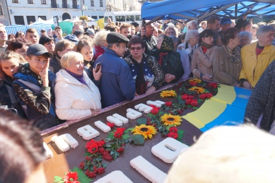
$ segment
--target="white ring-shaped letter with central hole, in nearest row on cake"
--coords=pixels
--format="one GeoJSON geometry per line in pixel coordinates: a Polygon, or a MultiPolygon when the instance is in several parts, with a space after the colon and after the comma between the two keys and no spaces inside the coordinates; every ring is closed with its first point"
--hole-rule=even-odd
{"type": "Polygon", "coordinates": [[[151,151],[164,162],[173,163],[183,149],[188,149],[188,146],[175,140],[175,138],[166,138],[153,146],[151,151]]]}

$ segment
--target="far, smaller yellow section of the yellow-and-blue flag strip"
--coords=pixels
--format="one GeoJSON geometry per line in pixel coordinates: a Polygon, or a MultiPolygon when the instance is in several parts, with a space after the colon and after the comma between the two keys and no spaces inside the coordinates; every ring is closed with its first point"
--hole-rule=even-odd
{"type": "Polygon", "coordinates": [[[213,96],[212,99],[219,100],[221,103],[232,104],[236,99],[236,92],[234,87],[228,85],[219,84],[218,93],[216,96],[213,96]]]}

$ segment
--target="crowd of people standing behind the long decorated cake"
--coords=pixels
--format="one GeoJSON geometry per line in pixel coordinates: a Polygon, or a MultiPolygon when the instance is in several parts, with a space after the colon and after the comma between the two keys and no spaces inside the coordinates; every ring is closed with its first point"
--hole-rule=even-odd
{"type": "Polygon", "coordinates": [[[66,36],[59,26],[7,35],[0,25],[0,103],[43,130],[190,77],[253,89],[275,59],[275,21],[245,18],[76,23],[66,36]]]}

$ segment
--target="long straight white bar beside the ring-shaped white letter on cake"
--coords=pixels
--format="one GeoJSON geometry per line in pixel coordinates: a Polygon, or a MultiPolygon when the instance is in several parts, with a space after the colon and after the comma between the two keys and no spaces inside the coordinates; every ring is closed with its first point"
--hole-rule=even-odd
{"type": "Polygon", "coordinates": [[[166,178],[166,173],[157,169],[157,167],[145,160],[141,155],[131,160],[130,164],[134,169],[146,177],[146,179],[153,183],[162,183],[166,178]]]}

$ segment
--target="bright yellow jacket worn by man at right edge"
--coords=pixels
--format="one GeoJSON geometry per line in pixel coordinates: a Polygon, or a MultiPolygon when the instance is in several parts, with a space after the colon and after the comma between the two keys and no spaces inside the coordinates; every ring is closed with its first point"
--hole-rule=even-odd
{"type": "Polygon", "coordinates": [[[245,78],[254,87],[268,65],[275,59],[275,46],[266,46],[263,52],[256,56],[256,45],[258,41],[250,45],[245,45],[241,49],[241,60],[243,67],[240,79],[245,78]],[[253,76],[254,75],[254,76],[253,76]]]}

